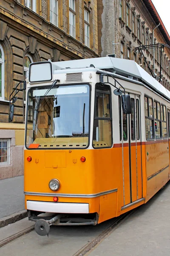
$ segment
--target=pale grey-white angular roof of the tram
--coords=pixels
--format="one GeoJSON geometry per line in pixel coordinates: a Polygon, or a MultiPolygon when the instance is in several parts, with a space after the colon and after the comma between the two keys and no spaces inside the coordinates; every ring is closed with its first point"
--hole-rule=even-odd
{"type": "Polygon", "coordinates": [[[90,67],[92,64],[99,70],[106,70],[131,79],[139,79],[139,81],[144,82],[144,84],[153,88],[157,93],[170,99],[170,91],[150,76],[150,74],[148,74],[135,61],[121,58],[101,57],[53,63],[57,65],[57,69],[85,68],[90,67]]]}

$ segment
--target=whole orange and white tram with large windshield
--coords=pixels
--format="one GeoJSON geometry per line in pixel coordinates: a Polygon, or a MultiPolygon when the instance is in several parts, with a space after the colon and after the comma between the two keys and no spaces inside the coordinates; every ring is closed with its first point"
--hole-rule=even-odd
{"type": "Polygon", "coordinates": [[[39,235],[119,216],[170,179],[170,91],[135,61],[32,63],[26,98],[25,207],[39,235]]]}

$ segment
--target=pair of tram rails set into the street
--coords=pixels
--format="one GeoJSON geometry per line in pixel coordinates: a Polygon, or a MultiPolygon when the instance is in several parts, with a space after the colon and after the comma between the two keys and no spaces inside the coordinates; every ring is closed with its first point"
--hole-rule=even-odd
{"type": "MultiPolygon", "coordinates": [[[[117,227],[119,227],[120,224],[122,224],[127,218],[130,217],[130,215],[135,211],[136,209],[133,209],[130,212],[127,212],[117,218],[113,219],[113,222],[109,227],[107,227],[105,230],[102,231],[98,236],[96,236],[95,239],[93,239],[91,242],[88,242],[83,246],[81,249],[79,249],[76,253],[74,253],[72,256],[85,256],[87,253],[89,253],[91,250],[93,250],[100,242],[102,242],[110,233],[112,233],[117,227]]],[[[9,244],[10,242],[19,239],[22,236],[25,236],[26,234],[30,233],[34,230],[34,225],[31,227],[28,227],[12,236],[7,237],[6,239],[3,239],[0,241],[0,247],[3,247],[6,244],[9,244]]]]}

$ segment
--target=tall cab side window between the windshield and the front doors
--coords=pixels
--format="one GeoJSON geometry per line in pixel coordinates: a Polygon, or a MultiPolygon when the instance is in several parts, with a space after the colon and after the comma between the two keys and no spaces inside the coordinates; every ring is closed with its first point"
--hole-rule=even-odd
{"type": "Polygon", "coordinates": [[[112,146],[111,87],[96,84],[93,129],[94,148],[112,146]]]}

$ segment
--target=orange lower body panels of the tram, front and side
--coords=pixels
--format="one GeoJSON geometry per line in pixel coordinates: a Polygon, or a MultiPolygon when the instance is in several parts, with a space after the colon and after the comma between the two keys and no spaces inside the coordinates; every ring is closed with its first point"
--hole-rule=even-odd
{"type": "MultiPolygon", "coordinates": [[[[25,150],[24,191],[53,193],[57,196],[58,193],[91,195],[117,189],[117,192],[94,198],[59,197],[59,202],[88,203],[89,213],[98,213],[98,223],[119,216],[147,202],[169,179],[168,141],[146,144],[137,145],[137,160],[136,145],[131,146],[132,199],[136,204],[125,209],[122,208],[122,144],[96,150],[25,150]],[[31,162],[26,160],[28,156],[32,157],[31,162]],[[86,158],[84,163],[80,160],[82,156],[86,158]],[[160,172],[161,169],[164,170],[160,172]],[[57,192],[51,191],[48,186],[52,178],[61,183],[57,192]],[[145,198],[145,201],[138,202],[140,198],[145,198]]],[[[130,204],[128,150],[128,146],[124,147],[125,205],[130,204]]],[[[53,202],[53,196],[26,195],[25,200],[53,202]]]]}

